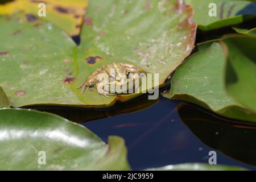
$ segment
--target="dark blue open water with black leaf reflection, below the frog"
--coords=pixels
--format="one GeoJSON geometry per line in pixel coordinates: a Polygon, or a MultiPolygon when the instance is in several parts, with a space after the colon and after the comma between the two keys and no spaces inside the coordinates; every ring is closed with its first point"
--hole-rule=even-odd
{"type": "MultiPolygon", "coordinates": [[[[148,109],[97,119],[82,125],[105,142],[109,135],[123,137],[133,169],[188,162],[208,163],[211,150],[217,152],[217,164],[256,169],[242,162],[256,164],[255,129],[234,127],[233,121],[218,118],[183,102],[161,97],[157,104],[148,109]],[[202,138],[208,146],[202,142],[202,138]],[[243,141],[247,139],[251,142],[243,141]]],[[[236,125],[243,126],[240,122],[236,125]]]]}

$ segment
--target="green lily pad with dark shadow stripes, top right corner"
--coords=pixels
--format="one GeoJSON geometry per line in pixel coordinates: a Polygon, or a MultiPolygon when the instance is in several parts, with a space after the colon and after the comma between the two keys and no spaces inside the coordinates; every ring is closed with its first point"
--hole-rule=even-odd
{"type": "Polygon", "coordinates": [[[246,6],[249,6],[249,1],[234,1],[234,0],[204,0],[194,1],[185,0],[185,3],[191,5],[195,11],[194,20],[198,27],[203,31],[209,31],[233,24],[242,23],[246,18],[239,12],[246,6]],[[216,5],[216,16],[209,16],[209,11],[213,8],[212,4],[216,5]],[[209,5],[211,5],[209,7],[209,5]]]}

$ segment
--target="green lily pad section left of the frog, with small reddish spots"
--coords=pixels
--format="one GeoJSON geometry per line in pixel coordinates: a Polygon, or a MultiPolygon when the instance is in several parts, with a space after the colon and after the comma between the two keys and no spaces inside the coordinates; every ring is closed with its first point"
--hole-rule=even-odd
{"type": "Polygon", "coordinates": [[[83,105],[69,85],[76,61],[71,38],[25,16],[1,16],[0,24],[0,86],[12,106],[83,105]]]}

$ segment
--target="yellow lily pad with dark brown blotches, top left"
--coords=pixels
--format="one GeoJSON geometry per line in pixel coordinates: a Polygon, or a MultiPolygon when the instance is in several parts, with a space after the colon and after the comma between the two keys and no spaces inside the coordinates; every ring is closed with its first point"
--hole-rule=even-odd
{"type": "Polygon", "coordinates": [[[88,6],[87,0],[15,0],[4,5],[0,5],[0,15],[13,14],[15,11],[23,11],[30,16],[30,19],[43,18],[52,22],[57,27],[62,28],[69,36],[80,34],[82,22],[85,15],[85,9],[88,6]],[[40,3],[46,5],[46,16],[38,16],[40,3]]]}

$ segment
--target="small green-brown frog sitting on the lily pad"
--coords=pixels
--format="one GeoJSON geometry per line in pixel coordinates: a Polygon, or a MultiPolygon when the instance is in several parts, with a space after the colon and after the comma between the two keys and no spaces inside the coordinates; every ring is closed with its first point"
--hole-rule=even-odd
{"type": "Polygon", "coordinates": [[[82,84],[77,89],[81,89],[81,94],[84,94],[86,88],[89,89],[93,86],[98,88],[98,86],[100,86],[100,88],[103,90],[103,92],[99,92],[100,94],[104,95],[105,97],[108,97],[109,95],[114,96],[117,93],[109,93],[109,88],[111,89],[111,86],[115,84],[119,84],[119,86],[127,85],[129,82],[133,82],[134,80],[138,79],[139,74],[141,73],[143,76],[146,76],[146,72],[136,65],[113,62],[111,64],[103,65],[102,67],[97,68],[84,80],[84,82],[82,82],[82,84]],[[102,81],[98,79],[98,76],[102,73],[105,73],[105,75],[108,76],[108,79],[106,79],[108,81],[102,81]],[[132,74],[131,79],[129,79],[130,73],[134,73],[132,74]]]}

